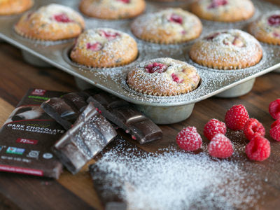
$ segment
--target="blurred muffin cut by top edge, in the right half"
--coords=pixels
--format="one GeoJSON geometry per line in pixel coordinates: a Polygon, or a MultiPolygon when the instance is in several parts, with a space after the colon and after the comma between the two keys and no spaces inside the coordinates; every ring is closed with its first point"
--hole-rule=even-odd
{"type": "Polygon", "coordinates": [[[198,0],[190,10],[200,18],[221,22],[247,20],[255,12],[250,0],[198,0]]]}

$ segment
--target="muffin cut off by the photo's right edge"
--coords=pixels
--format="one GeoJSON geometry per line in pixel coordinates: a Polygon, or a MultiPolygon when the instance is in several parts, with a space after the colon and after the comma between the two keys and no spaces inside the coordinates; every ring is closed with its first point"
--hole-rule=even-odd
{"type": "Polygon", "coordinates": [[[259,41],[280,45],[280,10],[262,15],[249,25],[248,31],[259,41]]]}

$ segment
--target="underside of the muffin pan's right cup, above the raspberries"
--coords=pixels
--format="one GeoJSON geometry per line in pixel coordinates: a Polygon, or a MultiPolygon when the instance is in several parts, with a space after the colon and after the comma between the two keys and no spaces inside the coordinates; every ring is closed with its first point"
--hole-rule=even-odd
{"type": "Polygon", "coordinates": [[[255,78],[248,80],[245,83],[241,83],[240,85],[236,85],[235,87],[232,87],[229,90],[225,90],[219,94],[216,94],[216,97],[221,97],[221,98],[240,97],[250,92],[253,88],[254,83],[255,83],[255,78]]]}

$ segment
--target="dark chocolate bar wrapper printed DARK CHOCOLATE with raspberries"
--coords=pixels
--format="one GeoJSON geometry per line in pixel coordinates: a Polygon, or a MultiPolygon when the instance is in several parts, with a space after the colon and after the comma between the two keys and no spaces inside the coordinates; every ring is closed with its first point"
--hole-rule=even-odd
{"type": "Polygon", "coordinates": [[[40,105],[63,92],[28,90],[0,130],[0,171],[59,178],[62,164],[51,146],[64,128],[50,118],[40,105]]]}

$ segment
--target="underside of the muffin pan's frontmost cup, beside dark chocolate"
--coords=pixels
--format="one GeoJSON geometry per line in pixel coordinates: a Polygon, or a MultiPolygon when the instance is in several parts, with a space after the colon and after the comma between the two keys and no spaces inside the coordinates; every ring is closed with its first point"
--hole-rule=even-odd
{"type": "Polygon", "coordinates": [[[183,106],[144,106],[135,105],[136,108],[144,113],[154,123],[159,125],[167,125],[179,123],[186,120],[193,113],[195,104],[188,104],[183,106]]]}

